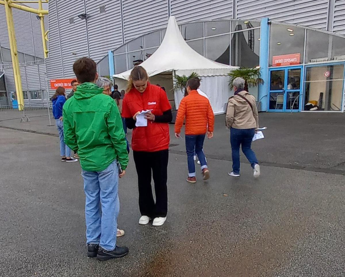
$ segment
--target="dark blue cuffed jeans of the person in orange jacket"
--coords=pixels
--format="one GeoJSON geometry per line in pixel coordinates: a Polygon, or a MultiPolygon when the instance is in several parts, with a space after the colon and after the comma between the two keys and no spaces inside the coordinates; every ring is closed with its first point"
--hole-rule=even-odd
{"type": "Polygon", "coordinates": [[[194,150],[198,155],[201,170],[207,168],[205,155],[203,152],[205,134],[203,135],[186,135],[186,152],[188,161],[188,176],[195,177],[195,164],[194,164],[194,150]]]}

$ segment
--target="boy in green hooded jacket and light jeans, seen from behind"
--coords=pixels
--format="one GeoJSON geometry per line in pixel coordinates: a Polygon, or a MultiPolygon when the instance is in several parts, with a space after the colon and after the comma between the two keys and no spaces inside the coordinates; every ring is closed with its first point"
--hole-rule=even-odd
{"type": "Polygon", "coordinates": [[[115,101],[95,85],[95,61],[78,59],[73,71],[80,85],[63,106],[63,127],[65,143],[80,157],[87,255],[99,260],[120,258],[128,253],[127,247],[116,246],[119,177],[125,176],[128,164],[121,115],[115,101]]]}

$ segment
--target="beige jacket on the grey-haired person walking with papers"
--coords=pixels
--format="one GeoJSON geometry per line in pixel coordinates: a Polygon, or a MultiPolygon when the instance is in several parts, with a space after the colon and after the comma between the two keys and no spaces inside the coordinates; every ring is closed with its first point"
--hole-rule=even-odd
{"type": "Polygon", "coordinates": [[[256,108],[255,97],[243,90],[238,94],[247,98],[252,104],[253,111],[245,99],[238,95],[233,95],[228,100],[226,109],[225,124],[228,128],[252,129],[259,127],[259,114],[256,108]]]}

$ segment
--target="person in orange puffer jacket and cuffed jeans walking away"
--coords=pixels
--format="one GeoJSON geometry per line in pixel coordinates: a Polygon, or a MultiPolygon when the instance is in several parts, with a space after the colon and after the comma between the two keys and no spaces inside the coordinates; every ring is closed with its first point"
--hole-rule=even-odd
{"type": "Polygon", "coordinates": [[[188,80],[188,95],[182,99],[178,107],[175,122],[175,137],[179,138],[181,127],[186,119],[187,182],[189,183],[196,183],[194,151],[198,155],[201,164],[203,180],[207,180],[210,177],[203,145],[206,132],[209,139],[213,137],[214,114],[208,99],[197,92],[198,87],[198,80],[194,78],[188,80]]]}

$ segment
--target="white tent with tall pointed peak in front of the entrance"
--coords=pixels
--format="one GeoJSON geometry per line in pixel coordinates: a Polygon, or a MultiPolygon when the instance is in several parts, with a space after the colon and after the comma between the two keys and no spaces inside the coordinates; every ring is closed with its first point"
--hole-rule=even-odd
{"type": "MultiPolygon", "coordinates": [[[[198,73],[202,78],[200,89],[208,95],[214,113],[224,113],[224,104],[231,95],[227,74],[236,67],[209,60],[190,48],[182,37],[174,16],[169,18],[167,30],[159,48],[140,66],[146,69],[151,83],[159,83],[168,89],[172,88],[173,75],[198,73]],[[166,82],[171,84],[165,85],[166,82]]],[[[131,69],[115,74],[114,77],[128,80],[130,72],[131,69]]],[[[176,108],[182,98],[182,92],[174,93],[176,108]]]]}

